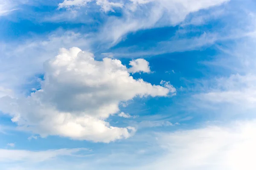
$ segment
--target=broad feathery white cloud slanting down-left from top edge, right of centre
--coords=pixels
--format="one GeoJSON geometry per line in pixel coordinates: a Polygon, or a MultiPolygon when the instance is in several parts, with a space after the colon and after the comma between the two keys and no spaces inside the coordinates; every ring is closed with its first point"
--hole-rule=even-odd
{"type": "Polygon", "coordinates": [[[130,33],[141,29],[176,26],[186,16],[201,9],[221,5],[229,0],[151,0],[127,3],[122,17],[110,17],[102,28],[100,37],[116,44],[130,33]],[[137,3],[136,3],[137,2],[137,3]],[[134,4],[139,4],[134,7],[134,4]],[[143,11],[143,13],[141,13],[143,11]],[[150,18],[150,20],[148,20],[150,18]]]}

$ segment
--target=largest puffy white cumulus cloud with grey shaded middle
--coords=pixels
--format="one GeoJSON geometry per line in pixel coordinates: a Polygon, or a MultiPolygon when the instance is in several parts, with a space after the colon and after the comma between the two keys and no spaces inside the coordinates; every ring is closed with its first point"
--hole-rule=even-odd
{"type": "Polygon", "coordinates": [[[128,138],[133,127],[113,127],[105,121],[119,111],[119,102],[134,97],[171,96],[169,83],[151,85],[134,79],[120,60],[94,59],[79,48],[60,49],[44,63],[41,89],[27,98],[0,98],[0,108],[23,130],[42,137],[59,135],[94,142],[128,138]]]}

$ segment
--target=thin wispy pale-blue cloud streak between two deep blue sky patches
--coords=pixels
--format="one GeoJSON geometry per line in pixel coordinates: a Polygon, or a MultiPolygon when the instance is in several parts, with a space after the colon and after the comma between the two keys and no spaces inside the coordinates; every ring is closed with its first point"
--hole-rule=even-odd
{"type": "MultiPolygon", "coordinates": [[[[184,52],[193,51],[201,48],[205,48],[214,45],[217,41],[227,40],[227,37],[221,36],[218,33],[201,33],[195,32],[195,34],[200,34],[199,36],[187,38],[186,34],[176,32],[176,35],[171,37],[169,40],[157,42],[151,47],[147,47],[147,50],[141,50],[142,46],[129,46],[124,48],[117,48],[111,51],[116,57],[145,57],[145,56],[156,56],[160,54],[167,54],[173,52],[184,52]]],[[[231,36],[230,36],[231,37],[231,36]]],[[[234,38],[234,37],[233,37],[234,38]]],[[[144,47],[144,46],[143,46],[144,47]]]]}

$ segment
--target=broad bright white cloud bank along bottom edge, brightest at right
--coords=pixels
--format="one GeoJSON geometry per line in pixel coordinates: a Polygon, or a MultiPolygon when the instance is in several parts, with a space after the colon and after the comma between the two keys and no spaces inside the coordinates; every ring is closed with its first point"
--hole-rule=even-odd
{"type": "MultiPolygon", "coordinates": [[[[256,120],[236,121],[226,125],[207,124],[191,130],[154,133],[148,136],[142,134],[138,139],[141,143],[130,141],[131,143],[120,144],[118,147],[115,145],[110,153],[94,153],[93,157],[77,161],[65,160],[60,156],[83,156],[86,153],[81,154],[81,151],[87,149],[38,152],[0,150],[0,153],[3,153],[0,155],[0,161],[2,164],[12,162],[9,167],[20,165],[15,161],[29,164],[45,161],[46,164],[40,168],[50,169],[47,168],[49,160],[58,158],[58,161],[51,162],[51,168],[63,170],[70,167],[76,167],[77,170],[83,170],[84,167],[89,170],[169,170],[170,167],[175,170],[254,170],[255,130],[256,120]]],[[[20,165],[20,168],[27,165],[20,165]]],[[[34,167],[37,165],[34,164],[34,167]]],[[[27,169],[32,170],[33,167],[27,169]]]]}

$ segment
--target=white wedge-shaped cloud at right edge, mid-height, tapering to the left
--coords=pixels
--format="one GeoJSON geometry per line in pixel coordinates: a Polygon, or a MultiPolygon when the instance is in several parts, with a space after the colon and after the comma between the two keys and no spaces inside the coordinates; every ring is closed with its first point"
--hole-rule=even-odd
{"type": "MultiPolygon", "coordinates": [[[[230,103],[255,108],[256,104],[256,76],[247,74],[233,74],[212,80],[209,92],[195,95],[196,98],[211,103],[230,103]]],[[[208,87],[209,88],[209,87],[208,87]]]]}

